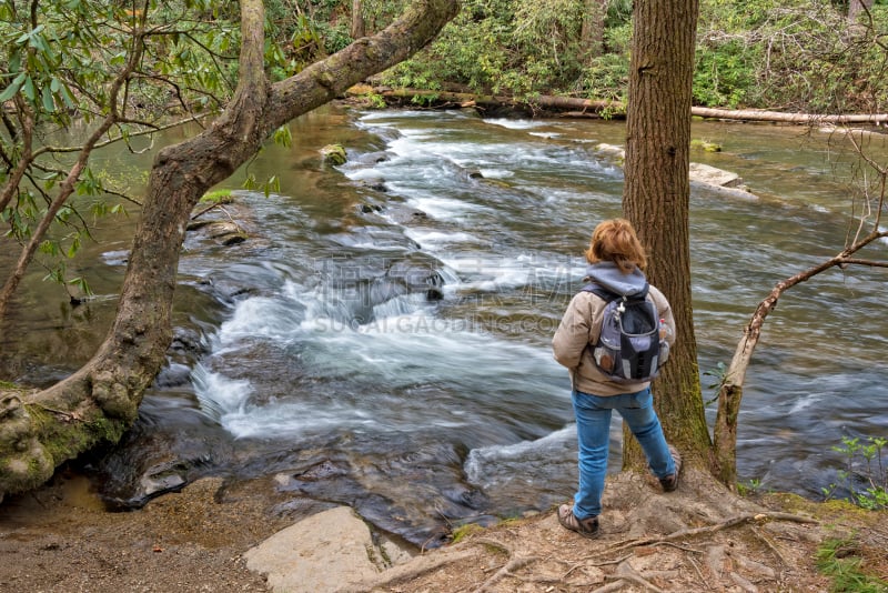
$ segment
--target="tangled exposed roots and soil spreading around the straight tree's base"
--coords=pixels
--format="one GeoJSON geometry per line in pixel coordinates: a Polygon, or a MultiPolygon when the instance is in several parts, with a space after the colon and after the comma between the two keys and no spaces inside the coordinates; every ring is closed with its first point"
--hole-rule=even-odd
{"type": "Polygon", "coordinates": [[[471,534],[450,550],[430,554],[442,555],[441,562],[432,565],[425,556],[414,559],[404,566],[418,561],[415,567],[380,575],[384,581],[366,591],[755,593],[828,589],[811,562],[814,542],[825,536],[819,521],[805,513],[778,512],[787,509],[783,505],[767,509],[740,499],[693,469],[685,474],[679,492],[664,494],[656,486],[646,475],[632,472],[608,479],[597,540],[565,530],[555,514],[548,513],[471,534]],[[791,543],[783,543],[783,535],[791,543]]]}

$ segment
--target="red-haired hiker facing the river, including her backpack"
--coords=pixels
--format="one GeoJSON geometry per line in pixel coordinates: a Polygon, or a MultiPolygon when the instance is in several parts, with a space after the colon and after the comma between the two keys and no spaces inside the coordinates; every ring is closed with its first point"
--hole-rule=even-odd
{"type": "Polygon", "coordinates": [[[675,341],[675,319],[663,293],[647,283],[644,247],[629,221],[606,220],[595,228],[585,255],[586,285],[571,300],[552,341],[555,360],[571,373],[579,442],[579,485],[573,504],[558,507],[558,522],[596,537],[614,410],[667,492],[678,485],[682,458],[666,443],[650,393],[650,380],[675,341]]]}

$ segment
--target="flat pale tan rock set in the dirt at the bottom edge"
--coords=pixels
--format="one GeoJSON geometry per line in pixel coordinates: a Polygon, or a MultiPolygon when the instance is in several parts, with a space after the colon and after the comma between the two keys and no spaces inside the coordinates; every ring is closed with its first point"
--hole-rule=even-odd
{"type": "Polygon", "coordinates": [[[246,567],[265,575],[275,593],[352,591],[411,557],[394,542],[374,543],[370,527],[347,506],[303,519],[244,554],[246,567]]]}

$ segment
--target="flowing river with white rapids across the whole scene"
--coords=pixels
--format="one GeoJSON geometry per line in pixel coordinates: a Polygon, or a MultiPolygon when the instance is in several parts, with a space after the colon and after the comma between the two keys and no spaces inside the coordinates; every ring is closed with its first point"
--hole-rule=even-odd
{"type": "MultiPolygon", "coordinates": [[[[90,465],[100,490],[125,505],[143,501],[145,474],[160,486],[274,474],[294,500],[349,504],[414,543],[571,496],[569,382],[549,342],[592,229],[620,214],[620,163],[599,144],[623,145],[625,123],[329,107],[292,131],[229,182],[280,179],[268,197],[235,191],[251,239],[188,239],[170,362],[124,442],[90,465]],[[322,162],[332,142],[344,165],[322,162]]],[[[755,194],[692,188],[708,373],[776,282],[842,249],[854,160],[838,137],[801,128],[695,122],[693,135],[724,151],[692,161],[755,194]]],[[[108,157],[133,179],[149,158],[108,157]]],[[[26,289],[22,331],[3,338],[13,379],[48,383],[92,353],[131,227],[90,248],[101,258],[83,264],[99,294],[87,305],[26,289]]],[[[885,260],[888,245],[870,253],[885,260]]],[[[837,481],[842,436],[888,435],[885,281],[884,269],[830,270],[768,316],[739,416],[743,480],[816,499],[837,481]]],[[[717,379],[702,381],[712,399],[717,379]]],[[[617,419],[613,439],[616,470],[617,419]]]]}

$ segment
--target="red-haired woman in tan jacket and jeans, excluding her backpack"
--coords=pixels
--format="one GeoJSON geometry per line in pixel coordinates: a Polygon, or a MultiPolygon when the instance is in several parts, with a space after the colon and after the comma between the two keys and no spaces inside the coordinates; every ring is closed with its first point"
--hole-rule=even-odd
{"type": "MultiPolygon", "coordinates": [[[[647,257],[632,224],[624,219],[602,222],[595,228],[588,250],[589,263],[584,281],[620,295],[632,295],[648,287],[643,270],[647,257]]],[[[649,298],[664,325],[665,339],[674,342],[675,319],[668,301],[654,287],[649,298]]],[[[615,382],[596,366],[589,344],[595,344],[602,328],[606,301],[593,292],[581,291],[571,300],[552,341],[555,360],[571,372],[572,399],[579,441],[579,488],[574,503],[558,507],[558,522],[585,537],[598,535],[602,492],[607,472],[610,414],[619,412],[647,458],[648,465],[667,492],[678,486],[682,458],[666,443],[654,411],[650,382],[615,382]]]]}

